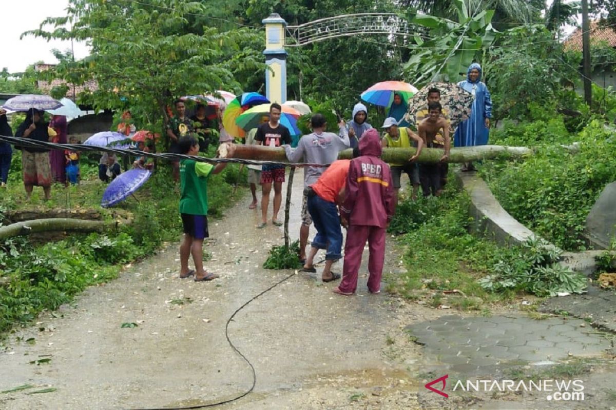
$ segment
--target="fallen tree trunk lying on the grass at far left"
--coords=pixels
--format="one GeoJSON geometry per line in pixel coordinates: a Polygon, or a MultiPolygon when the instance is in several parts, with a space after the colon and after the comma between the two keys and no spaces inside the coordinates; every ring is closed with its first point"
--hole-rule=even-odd
{"type": "Polygon", "coordinates": [[[87,219],[46,218],[22,221],[0,227],[0,240],[14,236],[30,235],[35,232],[49,231],[76,231],[93,232],[104,231],[116,226],[115,222],[89,221],[87,219]]]}

